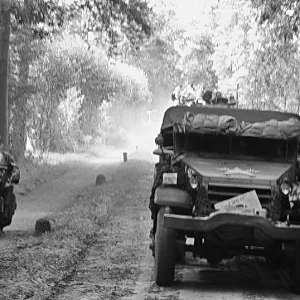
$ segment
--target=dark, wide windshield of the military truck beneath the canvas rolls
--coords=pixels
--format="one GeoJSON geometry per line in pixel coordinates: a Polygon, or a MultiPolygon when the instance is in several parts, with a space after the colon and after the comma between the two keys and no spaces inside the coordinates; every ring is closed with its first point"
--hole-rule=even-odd
{"type": "Polygon", "coordinates": [[[187,152],[197,152],[205,157],[294,161],[297,156],[298,143],[298,138],[279,140],[192,133],[187,136],[184,148],[187,152]]]}

